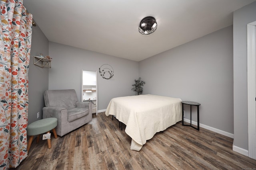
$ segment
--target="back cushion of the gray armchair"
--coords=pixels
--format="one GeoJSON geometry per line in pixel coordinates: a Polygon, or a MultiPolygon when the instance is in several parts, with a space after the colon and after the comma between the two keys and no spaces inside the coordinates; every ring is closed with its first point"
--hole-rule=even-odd
{"type": "Polygon", "coordinates": [[[44,92],[44,104],[46,107],[63,107],[73,109],[78,101],[76,91],[70,90],[46,90],[44,92]]]}

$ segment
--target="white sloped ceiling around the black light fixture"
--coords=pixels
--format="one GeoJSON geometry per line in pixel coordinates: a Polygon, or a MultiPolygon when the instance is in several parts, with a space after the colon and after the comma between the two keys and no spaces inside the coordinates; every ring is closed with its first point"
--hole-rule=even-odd
{"type": "MultiPolygon", "coordinates": [[[[232,25],[255,0],[24,0],[49,41],[141,61],[232,25]],[[150,35],[140,21],[158,23],[150,35]]],[[[39,41],[39,40],[38,40],[39,41]]]]}

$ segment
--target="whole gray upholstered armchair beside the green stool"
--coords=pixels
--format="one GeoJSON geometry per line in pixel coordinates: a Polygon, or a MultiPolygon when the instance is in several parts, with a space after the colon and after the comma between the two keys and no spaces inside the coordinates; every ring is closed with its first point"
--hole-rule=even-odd
{"type": "Polygon", "coordinates": [[[44,104],[43,119],[48,117],[58,119],[55,129],[59,136],[66,135],[92,120],[92,103],[78,102],[74,89],[46,90],[44,104]]]}

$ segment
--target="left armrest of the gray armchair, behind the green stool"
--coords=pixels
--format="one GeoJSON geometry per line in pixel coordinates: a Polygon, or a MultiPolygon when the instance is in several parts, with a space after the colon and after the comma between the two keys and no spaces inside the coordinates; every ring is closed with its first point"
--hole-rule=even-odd
{"type": "Polygon", "coordinates": [[[56,117],[58,121],[68,122],[68,109],[62,107],[43,107],[43,119],[56,117]]]}

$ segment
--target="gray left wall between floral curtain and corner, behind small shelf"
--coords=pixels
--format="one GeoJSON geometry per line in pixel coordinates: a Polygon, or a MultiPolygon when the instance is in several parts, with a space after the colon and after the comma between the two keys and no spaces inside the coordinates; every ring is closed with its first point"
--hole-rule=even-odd
{"type": "Polygon", "coordinates": [[[33,56],[39,56],[40,53],[48,55],[49,41],[41,29],[36,26],[32,27],[32,45],[28,70],[28,124],[42,119],[42,108],[44,107],[43,92],[48,90],[48,70],[50,68],[40,68],[34,65],[33,56]],[[40,112],[39,118],[37,118],[38,112],[40,112]]]}

